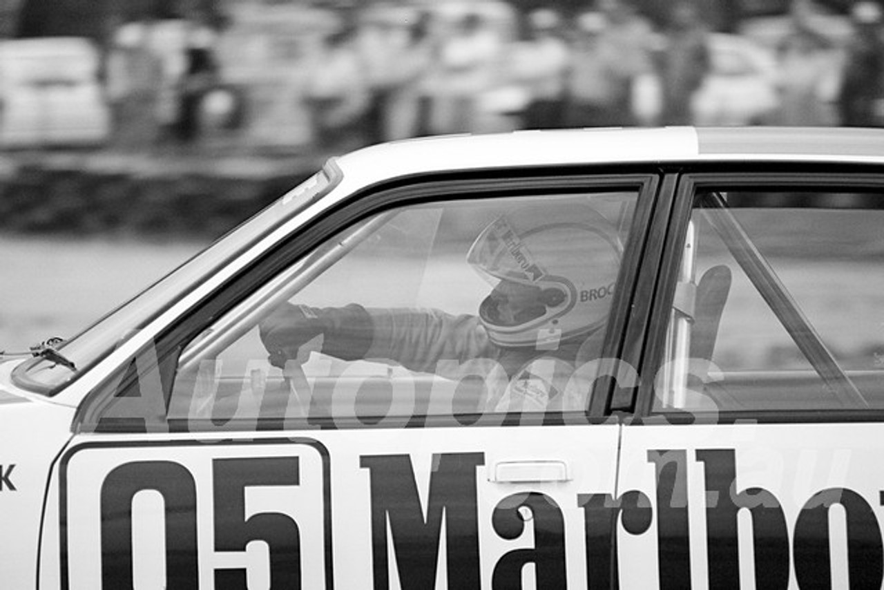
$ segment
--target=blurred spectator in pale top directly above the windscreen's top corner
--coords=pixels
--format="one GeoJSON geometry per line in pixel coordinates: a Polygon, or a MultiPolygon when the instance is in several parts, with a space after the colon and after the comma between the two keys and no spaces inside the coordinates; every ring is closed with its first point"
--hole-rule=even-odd
{"type": "Polygon", "coordinates": [[[369,88],[354,42],[354,29],[344,29],[323,41],[308,66],[305,101],[316,145],[347,150],[364,143],[362,117],[369,88]]]}

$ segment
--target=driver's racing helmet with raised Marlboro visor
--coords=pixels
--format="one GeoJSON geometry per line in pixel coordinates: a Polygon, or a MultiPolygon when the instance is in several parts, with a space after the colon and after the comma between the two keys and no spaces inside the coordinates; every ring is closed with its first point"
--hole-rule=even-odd
{"type": "Polygon", "coordinates": [[[613,226],[589,203],[530,206],[496,218],[467,254],[494,287],[479,306],[489,338],[503,347],[555,349],[604,326],[621,253],[613,226]]]}

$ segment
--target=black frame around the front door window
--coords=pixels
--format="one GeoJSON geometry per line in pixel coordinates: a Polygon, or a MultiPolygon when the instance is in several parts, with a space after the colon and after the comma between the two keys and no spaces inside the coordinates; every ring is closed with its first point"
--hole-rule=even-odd
{"type": "MultiPolygon", "coordinates": [[[[647,230],[659,191],[659,170],[647,165],[624,166],[556,166],[518,168],[505,170],[480,170],[470,172],[446,172],[423,174],[393,179],[362,188],[336,203],[320,216],[312,218],[297,233],[289,235],[268,249],[252,264],[238,272],[224,285],[197,303],[158,334],[155,342],[156,359],[159,366],[166,405],[168,406],[175,375],[178,356],[194,337],[226,311],[231,310],[248,297],[255,285],[264,284],[278,272],[293,264],[316,246],[337,234],[347,226],[359,223],[365,218],[377,215],[396,207],[425,203],[444,203],[464,198],[502,198],[514,196],[536,196],[538,191],[550,190],[557,194],[573,192],[601,192],[605,190],[635,190],[636,211],[630,229],[629,243],[623,255],[621,277],[625,295],[615,299],[616,307],[609,319],[609,336],[606,338],[604,356],[613,356],[622,349],[621,338],[613,339],[610,334],[623,331],[629,326],[631,303],[636,280],[643,265],[643,253],[647,230]]],[[[604,421],[608,399],[613,382],[598,379],[587,410],[590,421],[604,421]],[[596,402],[596,398],[603,398],[596,402]],[[604,413],[600,413],[604,412],[604,413]]],[[[150,431],[141,418],[115,419],[112,423],[100,423],[99,418],[106,406],[119,396],[137,396],[138,377],[135,364],[119,367],[80,403],[73,422],[72,431],[95,433],[144,433],[150,431]]],[[[260,431],[281,431],[281,420],[269,419],[258,424],[260,431]],[[279,422],[280,424],[276,424],[279,422]]],[[[450,422],[450,421],[449,421],[450,422]]],[[[546,422],[544,423],[546,424],[546,422]]],[[[355,426],[355,425],[354,425],[355,426]]],[[[424,426],[424,425],[420,425],[424,426]]],[[[432,424],[425,426],[431,427],[432,424]]],[[[168,421],[160,425],[161,430],[171,427],[168,421]]],[[[255,432],[255,429],[231,429],[231,433],[255,432]]]]}

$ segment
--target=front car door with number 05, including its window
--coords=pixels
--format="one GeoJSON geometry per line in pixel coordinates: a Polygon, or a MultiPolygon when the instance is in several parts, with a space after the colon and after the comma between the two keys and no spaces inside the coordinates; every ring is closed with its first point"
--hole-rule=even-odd
{"type": "Polygon", "coordinates": [[[305,226],[88,397],[53,473],[42,587],[590,585],[620,436],[593,385],[633,377],[603,359],[624,346],[657,188],[437,177],[305,226]],[[477,269],[573,289],[532,308],[552,315],[527,344],[490,347],[477,269]],[[571,309],[592,329],[568,332],[571,309]],[[284,362],[276,310],[301,330],[284,362]]]}

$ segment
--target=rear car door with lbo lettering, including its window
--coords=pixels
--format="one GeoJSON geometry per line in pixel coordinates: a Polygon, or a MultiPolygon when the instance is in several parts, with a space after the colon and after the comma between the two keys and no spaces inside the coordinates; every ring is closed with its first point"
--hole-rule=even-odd
{"type": "Polygon", "coordinates": [[[880,587],[878,170],[687,174],[618,497],[621,587],[880,587]],[[644,503],[643,503],[644,502],[644,503]]]}

